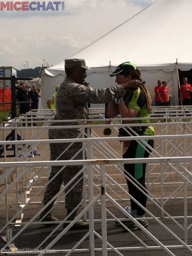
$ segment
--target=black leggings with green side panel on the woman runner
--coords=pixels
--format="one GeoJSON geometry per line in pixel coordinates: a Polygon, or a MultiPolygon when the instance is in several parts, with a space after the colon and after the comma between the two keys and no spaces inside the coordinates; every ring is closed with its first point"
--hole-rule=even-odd
{"type": "MultiPolygon", "coordinates": [[[[154,147],[154,140],[145,140],[145,141],[151,147],[154,147]]],[[[148,150],[151,152],[150,149],[148,150]]],[[[134,141],[134,140],[131,141],[130,146],[128,147],[127,151],[123,155],[123,158],[148,158],[148,157],[149,157],[149,153],[146,151],[146,148],[143,148],[143,146],[141,146],[140,144],[137,143],[137,141],[134,141]]],[[[127,172],[129,172],[132,175],[132,177],[135,178],[144,188],[146,188],[145,186],[146,163],[124,164],[124,169],[127,172]]],[[[125,173],[125,175],[127,174],[125,173]]],[[[144,195],[138,188],[136,188],[135,185],[132,184],[129,180],[127,180],[127,185],[129,188],[129,194],[132,195],[140,204],[142,204],[142,206],[146,207],[147,196],[144,195]]],[[[139,184],[137,185],[141,187],[139,184]]],[[[145,214],[145,211],[141,207],[139,207],[132,199],[131,199],[131,207],[132,207],[132,210],[137,211],[137,216],[142,216],[145,214]]]]}

